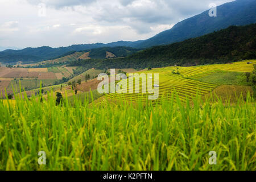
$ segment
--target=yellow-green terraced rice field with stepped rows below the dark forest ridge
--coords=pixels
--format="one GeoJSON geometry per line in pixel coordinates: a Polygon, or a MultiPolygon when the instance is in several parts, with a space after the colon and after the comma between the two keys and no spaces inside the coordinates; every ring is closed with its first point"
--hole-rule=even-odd
{"type": "MultiPolygon", "coordinates": [[[[200,78],[217,71],[253,72],[253,64],[256,63],[256,60],[251,61],[253,64],[247,64],[247,62],[248,61],[241,61],[233,64],[204,65],[198,67],[166,67],[152,69],[151,71],[138,72],[138,74],[146,73],[147,75],[148,73],[151,73],[152,77],[148,76],[147,81],[152,79],[152,85],[154,85],[154,73],[159,73],[159,85],[154,85],[155,88],[159,87],[158,98],[160,99],[163,97],[168,100],[171,98],[172,94],[176,92],[180,100],[185,101],[186,98],[195,98],[197,94],[204,96],[219,86],[217,84],[209,84],[196,81],[194,79],[192,80],[191,78],[200,78]]],[[[142,84],[142,80],[137,83],[134,81],[134,90],[139,88],[139,93],[129,93],[129,82],[132,81],[134,81],[134,77],[127,79],[127,93],[107,94],[106,97],[114,100],[123,98],[123,100],[127,101],[137,101],[141,99],[143,102],[146,102],[148,95],[150,94],[148,92],[146,94],[142,94],[142,89],[146,90],[146,88],[144,88],[145,85],[142,84]]],[[[124,83],[125,82],[121,81],[119,82],[119,85],[125,85],[124,83]]]]}

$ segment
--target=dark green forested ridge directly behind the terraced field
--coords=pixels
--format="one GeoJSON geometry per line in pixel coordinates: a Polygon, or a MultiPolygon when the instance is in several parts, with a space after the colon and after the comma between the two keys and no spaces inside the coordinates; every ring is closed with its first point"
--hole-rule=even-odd
{"type": "Polygon", "coordinates": [[[70,65],[86,68],[157,68],[170,65],[230,63],[256,59],[256,24],[230,26],[199,38],[155,46],[123,59],[82,60],[70,65]]]}

